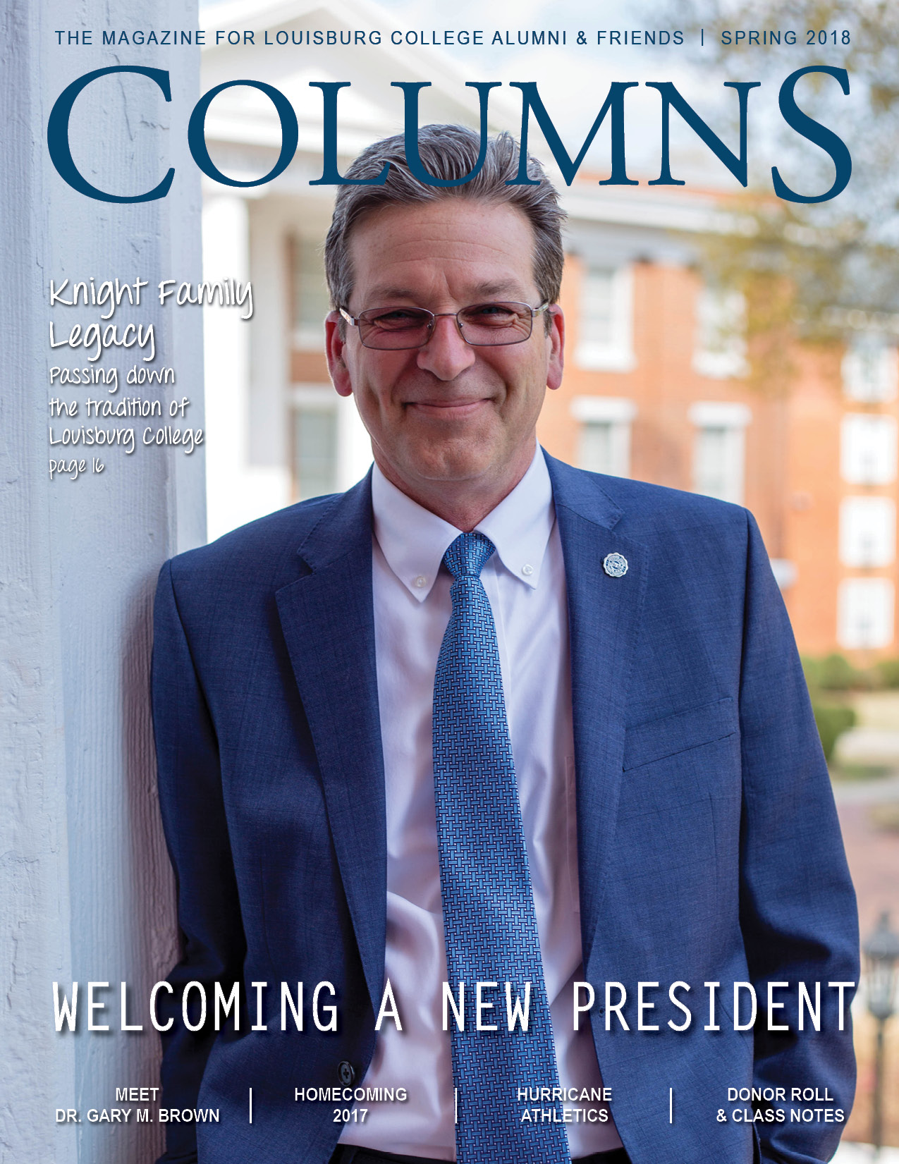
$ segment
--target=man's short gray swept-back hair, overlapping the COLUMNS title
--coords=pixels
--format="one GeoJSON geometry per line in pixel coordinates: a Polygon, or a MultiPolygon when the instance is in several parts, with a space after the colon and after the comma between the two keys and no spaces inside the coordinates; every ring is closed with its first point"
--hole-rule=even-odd
{"type": "MultiPolygon", "coordinates": [[[[481,150],[481,136],[466,126],[423,126],[418,130],[422,165],[432,178],[455,180],[474,170],[481,150]]],[[[429,186],[409,170],[403,134],[384,137],[366,147],[346,172],[347,178],[373,178],[390,163],[387,182],[381,186],[340,186],[325,240],[325,276],[331,292],[331,306],[346,308],[353,291],[353,267],[349,261],[349,237],[367,214],[385,206],[432,203],[438,198],[472,198],[487,203],[517,206],[533,228],[533,281],[540,300],[559,298],[565,255],[561,222],[565,211],[559,206],[555,187],[535,157],[528,158],[528,177],[538,186],[507,186],[518,172],[518,142],[508,133],[487,142],[483,166],[476,177],[459,186],[429,186]]],[[[368,306],[373,306],[368,304],[368,306]]]]}

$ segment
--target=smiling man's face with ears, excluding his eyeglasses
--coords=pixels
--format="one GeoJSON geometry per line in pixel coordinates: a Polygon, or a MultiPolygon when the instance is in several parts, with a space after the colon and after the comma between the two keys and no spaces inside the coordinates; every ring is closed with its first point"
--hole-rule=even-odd
{"type": "MultiPolygon", "coordinates": [[[[490,300],[537,307],[533,232],[508,204],[441,198],[391,206],[354,229],[349,314],[370,307],[425,307],[434,314],[490,300]]],[[[455,319],[434,324],[423,348],[381,352],[341,339],[328,317],[327,355],[334,386],[355,396],[384,475],[411,496],[436,488],[512,488],[530,464],[535,426],[547,386],[562,372],[564,322],[551,308],[548,333],[537,315],[530,339],[472,347],[455,319]]]]}

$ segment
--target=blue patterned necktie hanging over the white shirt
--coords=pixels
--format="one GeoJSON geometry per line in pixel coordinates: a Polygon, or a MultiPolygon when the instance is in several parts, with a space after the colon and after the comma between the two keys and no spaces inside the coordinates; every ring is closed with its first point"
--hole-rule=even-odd
{"type": "MultiPolygon", "coordinates": [[[[440,851],[446,963],[451,988],[465,982],[465,1030],[449,1016],[459,1114],[459,1164],[568,1164],[561,1123],[522,1122],[519,1087],[558,1087],[550,1007],[533,910],[515,764],[505,719],[500,651],[481,570],[494,552],[482,533],[463,533],[444,562],[453,575],[453,612],[434,680],[434,799],[440,851]],[[497,982],[495,1009],[476,1030],[476,982],[497,982]],[[524,1002],[528,1031],[509,1031],[505,982],[524,1002]]],[[[560,1117],[557,1103],[539,1103],[560,1117]]]]}

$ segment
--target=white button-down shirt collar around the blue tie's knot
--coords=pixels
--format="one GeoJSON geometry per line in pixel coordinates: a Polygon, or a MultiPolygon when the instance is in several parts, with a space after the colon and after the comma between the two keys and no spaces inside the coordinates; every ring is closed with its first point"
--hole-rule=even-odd
{"type": "MultiPolygon", "coordinates": [[[[371,474],[375,538],[388,566],[419,602],[434,584],[444,554],[461,533],[391,484],[375,464],[371,474]]],[[[521,583],[535,590],[555,521],[552,484],[543,449],[496,509],[476,528],[496,546],[496,556],[521,583]]]]}

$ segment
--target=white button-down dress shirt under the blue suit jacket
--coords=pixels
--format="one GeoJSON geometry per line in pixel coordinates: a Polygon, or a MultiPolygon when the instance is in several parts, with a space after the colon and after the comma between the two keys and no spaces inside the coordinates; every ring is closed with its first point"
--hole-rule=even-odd
{"type": "MultiPolygon", "coordinates": [[[[441,562],[461,531],[401,492],[377,466],[371,502],[387,793],[385,977],[403,1030],[384,1021],[363,1085],[405,1087],[409,1098],[360,1102],[368,1107],[364,1123],[348,1124],[341,1141],[455,1159],[451,1035],[443,1030],[447,973],[431,716],[437,658],[452,610],[452,579],[441,562]]],[[[566,1088],[600,1087],[589,1022],[585,1016],[575,1032],[572,1021],[572,982],[583,970],[568,617],[552,485],[539,448],[522,481],[476,528],[496,546],[481,580],[496,623],[559,1080],[566,1088]]],[[[502,984],[495,999],[504,1000],[502,984]]],[[[575,1158],[621,1144],[610,1117],[567,1123],[566,1130],[575,1158]]]]}

